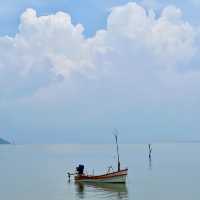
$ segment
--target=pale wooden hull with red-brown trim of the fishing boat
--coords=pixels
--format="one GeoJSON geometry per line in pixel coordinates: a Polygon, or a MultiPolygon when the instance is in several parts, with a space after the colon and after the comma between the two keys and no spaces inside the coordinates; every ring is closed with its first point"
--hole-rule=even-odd
{"type": "Polygon", "coordinates": [[[98,182],[98,183],[125,183],[128,174],[128,169],[117,172],[107,173],[103,175],[77,175],[76,182],[98,182]]]}

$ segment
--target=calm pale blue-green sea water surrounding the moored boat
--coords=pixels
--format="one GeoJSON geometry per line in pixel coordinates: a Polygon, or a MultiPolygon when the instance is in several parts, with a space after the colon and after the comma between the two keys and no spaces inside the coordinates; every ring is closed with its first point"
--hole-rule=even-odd
{"type": "Polygon", "coordinates": [[[88,172],[116,167],[113,145],[0,146],[2,200],[199,200],[200,144],[120,145],[126,185],[68,182],[79,163],[88,172]]]}

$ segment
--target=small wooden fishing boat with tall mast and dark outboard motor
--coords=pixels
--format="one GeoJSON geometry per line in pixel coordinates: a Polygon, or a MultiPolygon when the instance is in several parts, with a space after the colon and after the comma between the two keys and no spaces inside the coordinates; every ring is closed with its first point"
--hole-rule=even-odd
{"type": "MultiPolygon", "coordinates": [[[[75,182],[96,182],[96,183],[125,183],[126,177],[128,175],[128,168],[121,169],[120,168],[120,159],[119,159],[119,145],[118,145],[118,137],[115,134],[116,141],[116,150],[117,150],[117,164],[118,169],[116,171],[110,172],[110,169],[101,175],[87,175],[84,173],[84,165],[79,165],[76,168],[75,174],[68,173],[69,179],[70,175],[74,175],[75,182]]],[[[111,167],[112,168],[112,167],[111,167]]]]}

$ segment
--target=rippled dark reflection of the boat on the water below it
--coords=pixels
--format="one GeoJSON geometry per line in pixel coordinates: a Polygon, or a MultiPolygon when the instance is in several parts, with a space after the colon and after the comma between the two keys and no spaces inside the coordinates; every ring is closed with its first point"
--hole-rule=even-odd
{"type": "Polygon", "coordinates": [[[76,192],[80,198],[87,197],[93,192],[99,197],[110,199],[110,197],[117,197],[117,199],[128,199],[128,189],[122,183],[92,183],[92,182],[76,182],[76,192]]]}

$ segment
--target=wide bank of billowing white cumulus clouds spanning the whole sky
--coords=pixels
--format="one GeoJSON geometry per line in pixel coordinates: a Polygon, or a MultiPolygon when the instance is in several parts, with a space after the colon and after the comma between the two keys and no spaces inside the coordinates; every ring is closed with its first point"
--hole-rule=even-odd
{"type": "Polygon", "coordinates": [[[91,38],[67,13],[37,16],[27,9],[15,37],[0,38],[1,97],[32,94],[74,74],[135,90],[176,88],[193,77],[196,84],[198,40],[198,28],[174,6],[159,16],[136,3],[114,7],[107,27],[91,38]]]}

